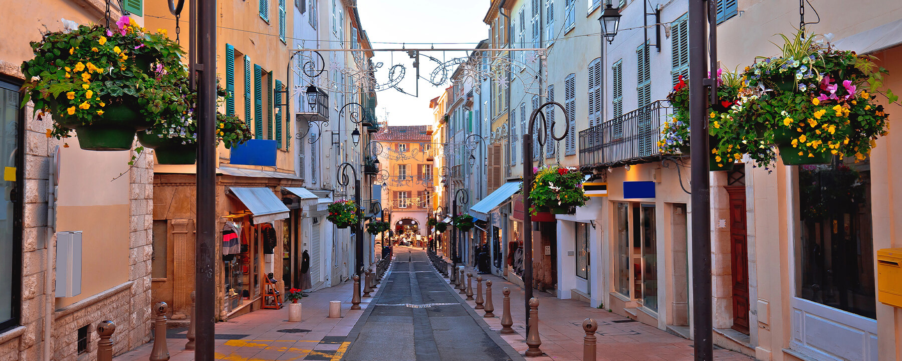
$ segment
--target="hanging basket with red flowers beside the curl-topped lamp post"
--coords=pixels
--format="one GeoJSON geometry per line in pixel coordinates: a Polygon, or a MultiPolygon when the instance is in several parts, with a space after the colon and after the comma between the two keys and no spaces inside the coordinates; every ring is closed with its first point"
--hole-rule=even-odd
{"type": "Polygon", "coordinates": [[[589,200],[583,191],[583,173],[575,168],[562,167],[559,164],[538,170],[529,190],[529,199],[533,216],[543,208],[555,214],[573,214],[575,207],[582,207],[589,200]]]}

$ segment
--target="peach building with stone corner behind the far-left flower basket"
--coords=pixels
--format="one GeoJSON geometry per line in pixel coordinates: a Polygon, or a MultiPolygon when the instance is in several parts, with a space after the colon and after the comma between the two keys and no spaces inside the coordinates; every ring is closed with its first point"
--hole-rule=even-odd
{"type": "MultiPolygon", "coordinates": [[[[114,352],[124,353],[150,339],[152,159],[141,156],[130,167],[133,152],[90,152],[78,138],[48,138],[51,119],[32,116],[31,105],[19,107],[20,65],[31,59],[29,42],[41,40],[39,30],[62,30],[60,18],[103,23],[106,8],[52,0],[0,6],[23,14],[0,23],[0,148],[7,160],[0,359],[96,359],[103,320],[115,322],[114,352]],[[80,245],[64,246],[69,239],[80,245]],[[72,268],[56,266],[66,259],[72,268]]],[[[142,2],[126,10],[145,23],[142,2]]],[[[111,22],[119,14],[115,6],[111,22]]]]}

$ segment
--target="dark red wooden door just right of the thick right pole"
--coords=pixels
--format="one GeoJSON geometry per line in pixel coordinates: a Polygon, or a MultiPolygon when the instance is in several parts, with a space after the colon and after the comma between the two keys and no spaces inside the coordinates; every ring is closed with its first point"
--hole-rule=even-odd
{"type": "Polygon", "coordinates": [[[749,247],[746,239],[745,187],[725,187],[730,194],[732,329],[749,333],[749,247]]]}

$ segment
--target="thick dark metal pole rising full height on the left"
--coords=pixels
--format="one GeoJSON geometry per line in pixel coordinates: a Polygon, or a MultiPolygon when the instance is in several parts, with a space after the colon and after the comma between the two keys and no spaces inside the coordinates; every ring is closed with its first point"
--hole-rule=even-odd
{"type": "MultiPolygon", "coordinates": [[[[198,237],[195,248],[195,326],[198,361],[213,361],[216,309],[216,0],[197,0],[197,42],[192,43],[198,88],[198,237]]],[[[193,23],[193,22],[192,22],[193,23]]]]}

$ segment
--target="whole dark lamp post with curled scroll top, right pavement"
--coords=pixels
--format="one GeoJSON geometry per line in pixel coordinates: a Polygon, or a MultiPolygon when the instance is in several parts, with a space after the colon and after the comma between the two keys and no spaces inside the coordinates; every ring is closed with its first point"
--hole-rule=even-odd
{"type": "Polygon", "coordinates": [[[542,117],[542,121],[539,123],[538,128],[538,146],[541,148],[542,145],[548,142],[548,135],[554,138],[557,141],[564,140],[566,138],[566,134],[570,132],[570,120],[566,115],[566,108],[561,106],[560,103],[550,101],[541,106],[538,106],[536,110],[532,111],[532,114],[529,115],[529,128],[526,130],[526,134],[523,134],[523,189],[527,190],[523,192],[523,301],[525,301],[526,305],[526,317],[524,319],[527,320],[526,328],[527,332],[529,332],[529,328],[531,327],[531,323],[529,322],[529,300],[532,299],[532,215],[529,211],[529,208],[532,207],[532,200],[529,199],[529,191],[532,188],[532,128],[536,125],[536,118],[538,116],[542,117]],[[556,122],[552,122],[550,125],[546,124],[545,113],[542,112],[546,106],[552,106],[550,109],[554,111],[554,106],[560,107],[564,112],[564,134],[561,136],[557,136],[554,134],[554,127],[556,122]],[[545,127],[543,130],[542,127],[545,127]],[[551,129],[548,132],[548,129],[551,129]]]}

